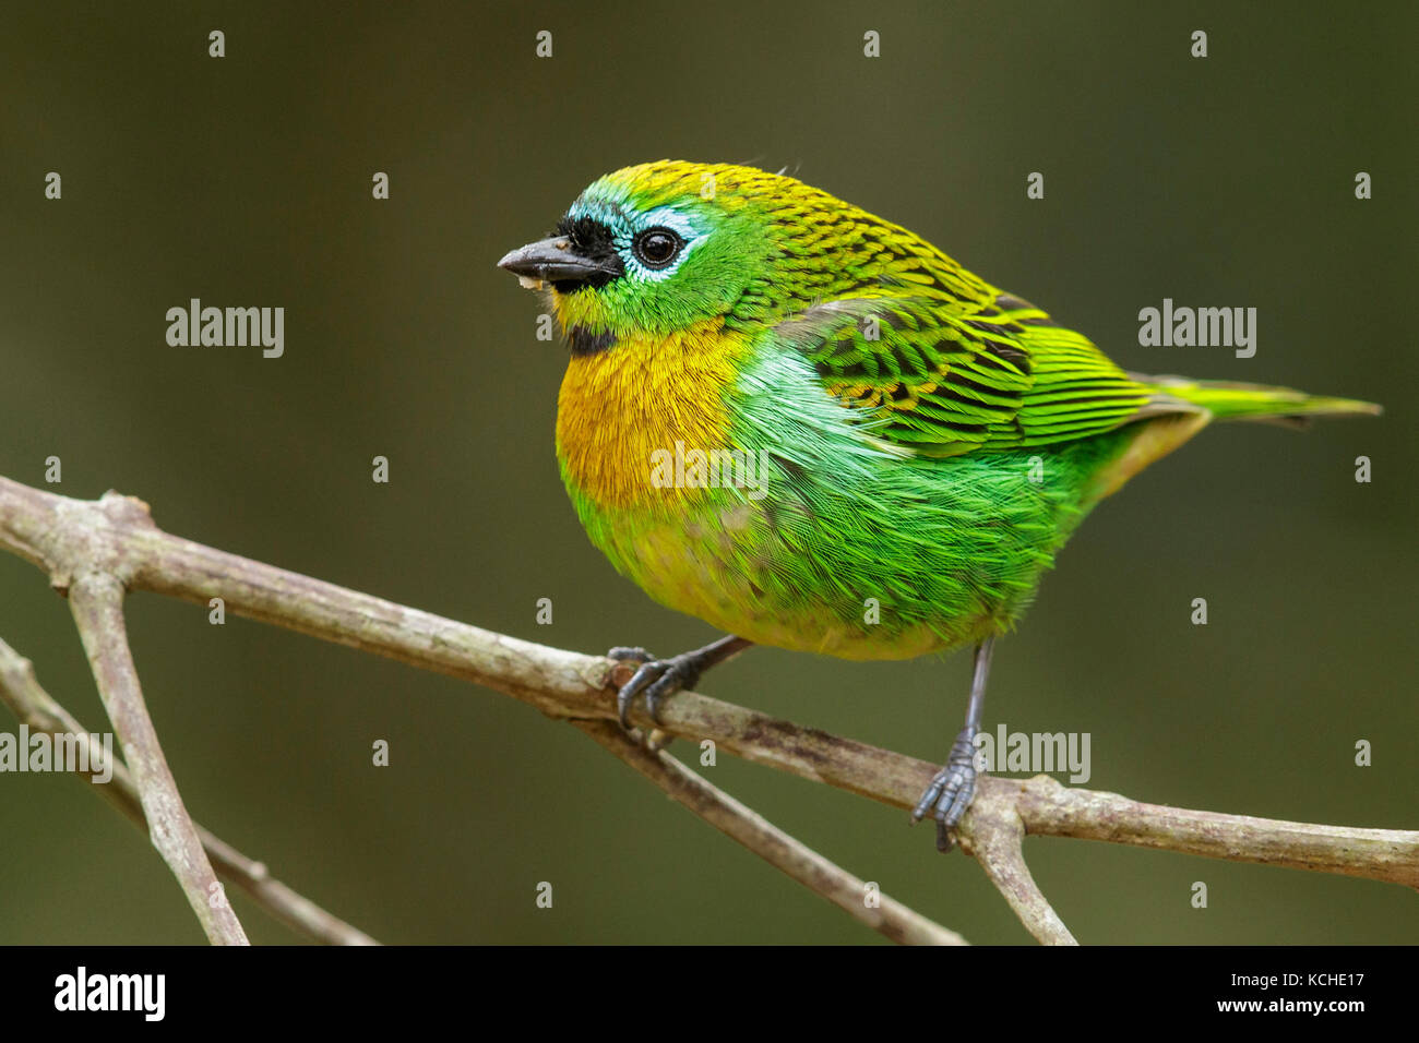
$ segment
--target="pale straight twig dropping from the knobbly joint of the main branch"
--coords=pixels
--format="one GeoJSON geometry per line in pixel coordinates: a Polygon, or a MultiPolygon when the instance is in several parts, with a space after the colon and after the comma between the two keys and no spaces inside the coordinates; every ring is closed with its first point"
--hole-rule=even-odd
{"type": "Polygon", "coordinates": [[[70,609],[108,719],[123,745],[153,846],[182,884],[207,939],[216,945],[248,945],[247,932],[201,850],[201,839],[148,715],[123,626],[123,585],[111,575],[85,572],[70,587],[70,609]]]}

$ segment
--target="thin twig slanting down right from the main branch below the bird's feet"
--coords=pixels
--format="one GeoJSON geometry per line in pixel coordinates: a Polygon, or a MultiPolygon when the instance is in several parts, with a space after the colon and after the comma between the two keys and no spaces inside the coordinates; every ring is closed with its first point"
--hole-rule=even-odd
{"type": "Polygon", "coordinates": [[[867,884],[795,840],[758,812],[690,771],[666,751],[651,754],[613,721],[573,721],[596,742],[654,782],[671,798],[771,866],[827,898],[850,917],[904,945],[966,945],[966,939],[867,884]]]}

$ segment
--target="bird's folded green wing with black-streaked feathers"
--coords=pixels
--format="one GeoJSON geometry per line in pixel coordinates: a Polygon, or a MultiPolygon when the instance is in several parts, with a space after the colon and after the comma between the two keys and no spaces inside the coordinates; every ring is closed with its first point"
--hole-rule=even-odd
{"type": "Polygon", "coordinates": [[[833,301],[775,333],[876,437],[922,456],[1047,446],[1193,409],[1005,294],[965,315],[931,298],[833,301]]]}

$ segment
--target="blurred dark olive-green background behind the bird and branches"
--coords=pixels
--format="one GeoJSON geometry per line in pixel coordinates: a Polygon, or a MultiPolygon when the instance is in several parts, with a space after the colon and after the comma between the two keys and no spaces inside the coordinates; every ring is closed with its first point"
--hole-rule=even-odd
{"type": "MultiPolygon", "coordinates": [[[[1413,829],[1416,28],[1399,3],[11,9],[0,474],[43,485],[58,456],[58,492],[139,495],[170,532],[519,637],[692,647],[712,631],[580,532],[552,456],[565,349],[494,263],[604,170],[789,166],[1125,368],[1385,403],[1308,434],[1216,427],[1134,480],[998,647],[986,719],[1091,732],[1088,785],[1138,799],[1413,829]],[[285,356],[169,348],[165,312],[192,297],[285,307],[285,356]],[[1256,358],[1139,348],[1138,309],[1165,297],[1256,307],[1256,358]]],[[[518,702],[152,595],[129,620],[189,807],[382,941],[880,941],[518,702]]],[[[68,606],[9,555],[0,636],[101,727],[68,606]]],[[[755,650],[701,687],[935,761],[968,658],[755,650]]],[[[905,815],[729,756],[708,775],[969,939],[1029,941],[905,815]]],[[[85,789],[0,775],[0,942],[201,941],[85,789]]],[[[1026,854],[1086,942],[1419,937],[1395,885],[1074,840],[1026,854]]],[[[299,941],[236,903],[254,941],[299,941]]]]}

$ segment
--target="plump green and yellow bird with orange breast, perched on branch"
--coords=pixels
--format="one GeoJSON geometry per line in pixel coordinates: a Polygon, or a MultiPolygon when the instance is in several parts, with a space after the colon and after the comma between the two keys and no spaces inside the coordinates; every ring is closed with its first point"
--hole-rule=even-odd
{"type": "Polygon", "coordinates": [[[965,727],[911,813],[976,790],[996,637],[1083,518],[1213,420],[1379,406],[1127,372],[921,236],[795,177],[658,160],[604,175],[499,267],[569,348],[556,458],[590,542],[725,631],[636,666],[651,721],[752,644],[847,660],[973,649],[965,727]]]}

